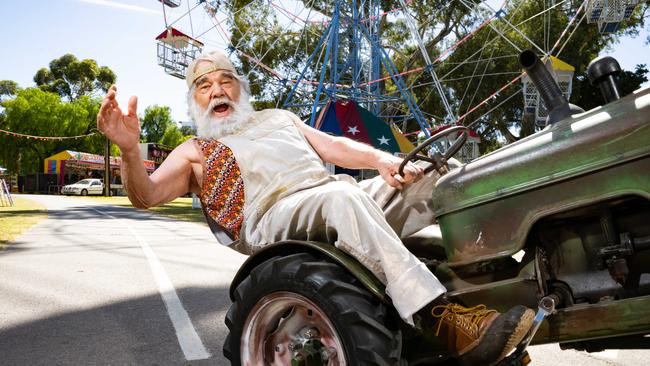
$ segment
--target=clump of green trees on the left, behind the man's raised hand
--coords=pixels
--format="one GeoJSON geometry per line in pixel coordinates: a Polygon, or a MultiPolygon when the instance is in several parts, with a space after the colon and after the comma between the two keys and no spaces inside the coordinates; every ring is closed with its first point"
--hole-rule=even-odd
{"type": "MultiPolygon", "coordinates": [[[[104,94],[116,76],[94,60],[66,54],[36,73],[37,87],[20,88],[0,81],[0,129],[35,136],[0,133],[0,165],[19,174],[42,171],[43,160],[63,150],[104,155],[105,137],[95,129],[104,94]],[[94,134],[92,134],[95,132],[94,134]],[[76,139],[48,139],[92,134],[76,139]]],[[[142,120],[142,141],[175,147],[187,136],[172,121],[169,107],[151,106],[142,120]]],[[[111,147],[111,155],[119,149],[111,147]]]]}

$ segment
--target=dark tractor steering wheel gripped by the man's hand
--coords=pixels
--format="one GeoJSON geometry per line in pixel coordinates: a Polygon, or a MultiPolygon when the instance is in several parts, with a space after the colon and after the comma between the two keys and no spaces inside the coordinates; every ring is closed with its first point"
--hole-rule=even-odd
{"type": "Polygon", "coordinates": [[[456,154],[458,150],[460,150],[460,148],[463,146],[465,141],[467,141],[468,134],[469,134],[469,129],[467,127],[454,126],[446,130],[440,131],[437,134],[429,137],[423,143],[421,143],[415,149],[413,149],[408,155],[406,155],[404,161],[402,161],[402,164],[400,164],[399,166],[399,175],[404,176],[404,167],[406,166],[406,163],[408,163],[409,161],[416,161],[416,160],[423,160],[431,163],[430,166],[424,169],[424,173],[429,173],[430,171],[435,169],[436,171],[438,171],[438,173],[440,173],[440,175],[446,174],[449,171],[449,165],[447,164],[447,161],[449,160],[449,158],[454,156],[454,154],[456,154]],[[456,138],[456,141],[454,141],[454,143],[449,147],[449,149],[447,149],[447,151],[444,151],[443,153],[436,151],[431,156],[418,154],[420,151],[422,151],[422,149],[440,140],[441,138],[459,131],[460,131],[460,136],[456,138]]]}

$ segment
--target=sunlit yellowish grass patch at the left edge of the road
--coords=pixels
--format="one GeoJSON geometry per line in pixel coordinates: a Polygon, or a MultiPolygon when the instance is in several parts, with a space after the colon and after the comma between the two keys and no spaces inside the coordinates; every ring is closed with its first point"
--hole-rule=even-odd
{"type": "Polygon", "coordinates": [[[13,206],[0,207],[0,250],[32,225],[47,218],[47,210],[39,203],[22,197],[13,198],[13,206]]]}

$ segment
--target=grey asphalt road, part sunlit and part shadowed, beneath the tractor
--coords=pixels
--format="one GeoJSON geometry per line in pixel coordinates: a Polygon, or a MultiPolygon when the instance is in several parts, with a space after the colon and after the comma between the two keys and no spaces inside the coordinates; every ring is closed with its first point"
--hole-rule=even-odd
{"type": "MultiPolygon", "coordinates": [[[[206,226],[63,196],[0,252],[0,365],[229,365],[228,286],[245,257],[206,226]]],[[[647,365],[650,351],[529,349],[534,366],[647,365]]]]}

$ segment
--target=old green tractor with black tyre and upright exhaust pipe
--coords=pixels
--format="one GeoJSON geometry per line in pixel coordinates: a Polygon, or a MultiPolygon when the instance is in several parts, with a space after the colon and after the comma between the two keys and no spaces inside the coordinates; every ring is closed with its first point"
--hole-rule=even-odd
{"type": "MultiPolygon", "coordinates": [[[[620,98],[618,63],[596,60],[589,76],[607,103],[584,112],[534,53],[520,61],[547,126],[448,172],[460,143],[425,157],[446,172],[433,189],[437,222],[404,244],[454,301],[538,309],[503,365],[526,364],[528,344],[649,348],[650,88],[620,98]]],[[[230,297],[224,354],[235,365],[454,364],[433,334],[399,319],[377,278],[327,243],[257,252],[230,297]]]]}

